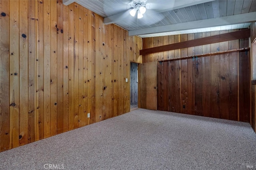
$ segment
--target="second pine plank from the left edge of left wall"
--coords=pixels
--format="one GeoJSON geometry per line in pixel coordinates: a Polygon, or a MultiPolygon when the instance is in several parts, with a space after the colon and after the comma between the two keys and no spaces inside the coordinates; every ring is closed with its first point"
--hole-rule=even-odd
{"type": "Polygon", "coordinates": [[[10,1],[10,148],[19,146],[19,1],[10,1]]]}

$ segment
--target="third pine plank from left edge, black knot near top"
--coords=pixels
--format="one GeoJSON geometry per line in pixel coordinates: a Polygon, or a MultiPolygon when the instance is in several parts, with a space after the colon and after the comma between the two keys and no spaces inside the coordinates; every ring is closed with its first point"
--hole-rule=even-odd
{"type": "Polygon", "coordinates": [[[28,143],[28,2],[20,1],[20,145],[28,143]],[[23,37],[22,37],[23,35],[23,37]],[[26,35],[26,37],[24,36],[26,35]]]}

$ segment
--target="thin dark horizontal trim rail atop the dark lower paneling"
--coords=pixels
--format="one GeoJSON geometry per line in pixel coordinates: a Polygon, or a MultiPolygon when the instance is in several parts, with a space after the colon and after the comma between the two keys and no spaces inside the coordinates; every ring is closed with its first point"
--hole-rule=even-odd
{"type": "Polygon", "coordinates": [[[241,49],[232,49],[232,50],[218,51],[218,52],[212,52],[212,53],[189,55],[189,56],[185,56],[185,57],[164,59],[164,60],[158,60],[158,61],[174,61],[174,60],[188,59],[188,58],[193,58],[193,57],[204,57],[204,56],[209,56],[209,55],[218,55],[218,54],[224,54],[224,53],[231,53],[231,52],[235,52],[235,51],[249,51],[249,50],[250,50],[250,47],[246,47],[246,48],[241,48],[241,49]]]}

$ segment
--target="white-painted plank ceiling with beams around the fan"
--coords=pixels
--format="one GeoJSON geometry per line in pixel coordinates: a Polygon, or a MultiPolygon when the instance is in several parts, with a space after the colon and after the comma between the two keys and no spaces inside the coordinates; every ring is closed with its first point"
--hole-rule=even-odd
{"type": "MultiPolygon", "coordinates": [[[[246,15],[252,13],[252,16],[256,16],[256,0],[148,0],[150,9],[141,19],[129,15],[131,6],[128,3],[130,0],[64,0],[66,5],[72,2],[77,2],[104,17],[105,24],[116,23],[116,25],[128,30],[129,35],[142,35],[141,37],[160,36],[160,34],[155,33],[168,32],[166,29],[162,30],[164,26],[175,28],[170,29],[170,31],[182,30],[179,28],[182,27],[179,25],[181,23],[197,25],[196,21],[202,21],[200,27],[209,27],[209,24],[204,25],[204,21],[214,18],[223,17],[224,20],[213,20],[211,27],[215,24],[216,26],[232,25],[227,27],[232,29],[233,27],[235,29],[247,28],[250,22],[256,20],[256,17],[251,17],[251,19],[246,15]],[[241,14],[245,15],[240,16],[241,14]],[[241,21],[228,23],[229,17],[234,15],[242,17],[241,21]],[[144,29],[150,29],[150,31],[152,29],[152,31],[149,33],[148,30],[145,30],[147,35],[143,35],[144,29]]],[[[186,30],[188,29],[192,28],[188,26],[186,30]]]]}

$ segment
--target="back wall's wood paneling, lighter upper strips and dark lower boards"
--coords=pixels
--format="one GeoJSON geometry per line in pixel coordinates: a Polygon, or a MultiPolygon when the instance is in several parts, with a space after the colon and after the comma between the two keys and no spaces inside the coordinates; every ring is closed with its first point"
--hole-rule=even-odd
{"type": "MultiPolygon", "coordinates": [[[[231,30],[235,31],[235,30],[231,30]]],[[[144,38],[143,48],[228,31],[144,38]],[[145,43],[145,44],[144,44],[145,43]]],[[[176,49],[143,56],[143,62],[249,47],[248,39],[176,49]]],[[[250,121],[249,51],[158,63],[158,110],[250,121]]]]}

